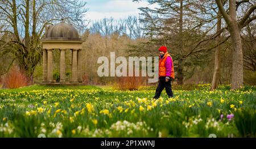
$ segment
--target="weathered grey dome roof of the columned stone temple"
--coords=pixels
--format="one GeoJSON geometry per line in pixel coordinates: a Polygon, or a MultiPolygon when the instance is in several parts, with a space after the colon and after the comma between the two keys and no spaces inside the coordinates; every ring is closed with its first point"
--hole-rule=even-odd
{"type": "Polygon", "coordinates": [[[81,40],[81,38],[75,27],[60,22],[49,27],[43,40],[81,40]]]}

